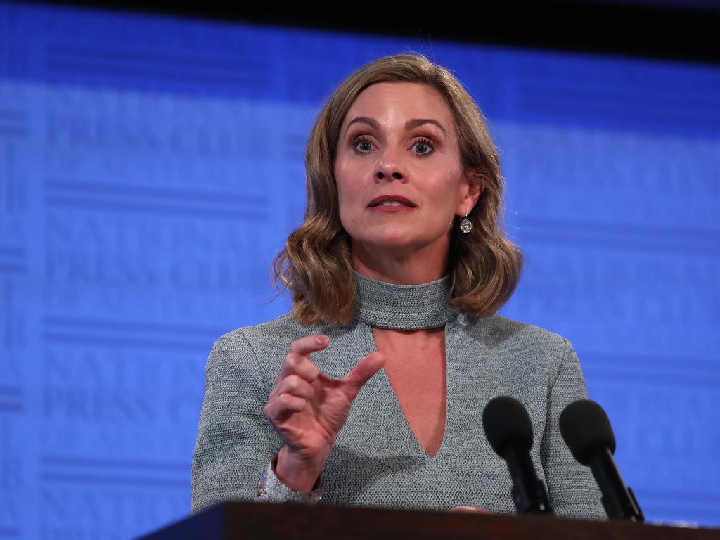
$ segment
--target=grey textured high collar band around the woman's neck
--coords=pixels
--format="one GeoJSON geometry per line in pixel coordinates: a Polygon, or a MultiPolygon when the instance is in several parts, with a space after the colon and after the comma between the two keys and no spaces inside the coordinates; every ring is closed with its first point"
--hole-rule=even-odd
{"type": "Polygon", "coordinates": [[[371,326],[398,330],[444,326],[459,312],[448,304],[450,296],[449,276],[420,285],[395,285],[355,272],[356,317],[371,326]]]}

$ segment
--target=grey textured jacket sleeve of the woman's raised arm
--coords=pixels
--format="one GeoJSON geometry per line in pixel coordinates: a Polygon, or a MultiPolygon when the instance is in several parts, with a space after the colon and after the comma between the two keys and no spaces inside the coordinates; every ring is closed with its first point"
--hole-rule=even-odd
{"type": "Polygon", "coordinates": [[[268,395],[246,336],[235,330],[218,339],[205,367],[190,513],[224,500],[256,498],[258,483],[280,448],[264,415],[268,395]]]}

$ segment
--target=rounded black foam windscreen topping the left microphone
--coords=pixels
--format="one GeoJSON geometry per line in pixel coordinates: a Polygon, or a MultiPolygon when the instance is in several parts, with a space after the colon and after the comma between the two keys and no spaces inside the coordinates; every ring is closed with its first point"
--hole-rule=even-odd
{"type": "Polygon", "coordinates": [[[514,397],[495,397],[482,411],[482,427],[490,446],[500,457],[510,445],[520,451],[530,451],[533,446],[533,425],[528,411],[514,397]]]}

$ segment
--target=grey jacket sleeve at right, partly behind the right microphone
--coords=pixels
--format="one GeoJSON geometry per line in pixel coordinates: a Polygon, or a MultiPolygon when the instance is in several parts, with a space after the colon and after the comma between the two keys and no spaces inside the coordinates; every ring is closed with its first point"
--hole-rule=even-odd
{"type": "Polygon", "coordinates": [[[575,461],[560,435],[559,418],[575,400],[587,399],[580,361],[570,341],[564,339],[564,354],[557,377],[549,387],[545,431],[540,459],[554,514],[564,518],[606,520],[600,490],[592,472],[575,461]]]}

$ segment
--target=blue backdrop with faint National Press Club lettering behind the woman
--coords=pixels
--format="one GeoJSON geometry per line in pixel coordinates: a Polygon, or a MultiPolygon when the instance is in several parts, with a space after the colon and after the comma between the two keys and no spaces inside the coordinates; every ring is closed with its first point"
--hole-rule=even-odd
{"type": "Polygon", "coordinates": [[[720,68],[0,3],[0,538],[186,516],[207,353],[289,307],[320,103],[410,49],[503,150],[503,314],[572,341],[650,521],[720,525],[720,68]]]}

